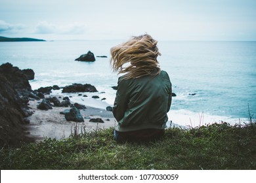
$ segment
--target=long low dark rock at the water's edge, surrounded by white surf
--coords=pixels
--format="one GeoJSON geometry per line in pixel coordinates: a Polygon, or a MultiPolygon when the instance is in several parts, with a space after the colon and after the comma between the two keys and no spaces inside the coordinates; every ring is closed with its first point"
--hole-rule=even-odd
{"type": "Polygon", "coordinates": [[[78,93],[78,92],[98,92],[95,86],[91,84],[72,84],[70,86],[65,86],[62,93],[78,93]]]}

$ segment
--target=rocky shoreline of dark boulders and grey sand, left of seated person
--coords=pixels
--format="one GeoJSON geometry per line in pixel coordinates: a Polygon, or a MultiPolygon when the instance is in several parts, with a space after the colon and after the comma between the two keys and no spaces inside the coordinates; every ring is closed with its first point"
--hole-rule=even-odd
{"type": "Polygon", "coordinates": [[[114,126],[112,107],[106,110],[85,107],[72,102],[65,95],[97,92],[91,84],[73,84],[63,88],[49,86],[32,90],[29,80],[33,80],[34,75],[32,69],[20,70],[11,63],[0,66],[1,147],[20,146],[24,142],[35,142],[44,137],[67,137],[72,133],[71,127],[77,123],[86,130],[114,126]],[[53,95],[52,90],[62,90],[62,95],[53,95]],[[62,127],[67,129],[63,131],[62,127]]]}

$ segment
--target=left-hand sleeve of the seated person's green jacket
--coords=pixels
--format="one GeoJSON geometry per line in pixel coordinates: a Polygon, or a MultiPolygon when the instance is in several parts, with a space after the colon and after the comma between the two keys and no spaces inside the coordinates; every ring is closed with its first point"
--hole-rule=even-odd
{"type": "Polygon", "coordinates": [[[119,122],[127,110],[128,106],[128,92],[125,80],[119,78],[116,92],[116,99],[114,101],[113,114],[117,122],[119,122]]]}

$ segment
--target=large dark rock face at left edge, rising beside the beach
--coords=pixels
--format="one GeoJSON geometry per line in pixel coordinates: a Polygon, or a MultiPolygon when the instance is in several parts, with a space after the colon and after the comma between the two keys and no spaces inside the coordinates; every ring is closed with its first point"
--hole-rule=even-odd
{"type": "Polygon", "coordinates": [[[0,147],[20,146],[33,142],[25,133],[32,112],[28,110],[28,95],[32,92],[27,76],[11,63],[0,66],[0,147]]]}

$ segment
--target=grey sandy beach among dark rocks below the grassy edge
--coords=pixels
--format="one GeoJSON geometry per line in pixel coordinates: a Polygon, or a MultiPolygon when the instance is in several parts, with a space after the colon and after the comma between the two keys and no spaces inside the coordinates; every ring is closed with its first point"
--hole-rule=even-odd
{"type": "MultiPolygon", "coordinates": [[[[64,97],[64,95],[46,95],[46,97],[54,96],[64,97]]],[[[79,98],[81,97],[74,98],[74,101],[72,101],[73,98],[71,98],[70,102],[75,103],[77,100],[79,101],[79,98]]],[[[102,108],[104,102],[90,98],[83,98],[82,100],[83,103],[88,101],[90,104],[94,103],[94,106],[98,105],[98,107],[101,107],[95,108],[86,105],[85,109],[81,109],[80,112],[85,122],[67,121],[64,114],[60,114],[60,112],[70,109],[70,107],[53,107],[53,109],[50,110],[39,110],[37,105],[39,105],[42,100],[30,101],[28,106],[33,114],[28,117],[28,120],[30,120],[30,124],[28,124],[29,136],[34,137],[37,141],[41,141],[45,137],[62,139],[74,133],[75,126],[77,126],[78,133],[81,133],[81,130],[89,132],[96,129],[114,127],[117,123],[112,112],[102,108]],[[101,118],[104,123],[89,122],[89,120],[93,118],[101,118]]]]}

